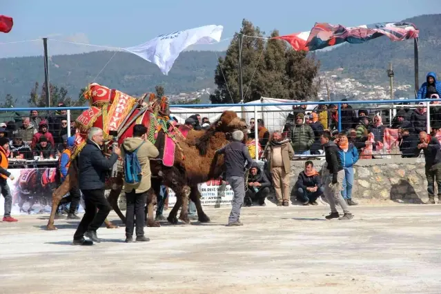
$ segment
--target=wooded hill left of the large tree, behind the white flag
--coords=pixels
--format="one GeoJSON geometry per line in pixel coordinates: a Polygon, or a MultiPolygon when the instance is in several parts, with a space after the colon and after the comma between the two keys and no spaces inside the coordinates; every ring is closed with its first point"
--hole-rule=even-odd
{"type": "MultiPolygon", "coordinates": [[[[110,88],[117,88],[130,95],[155,91],[156,85],[164,86],[166,95],[193,92],[214,87],[217,57],[224,52],[186,51],[179,55],[168,76],[162,75],[153,63],[144,61],[128,52],[98,51],[79,55],[50,57],[50,82],[65,87],[76,99],[81,88],[95,80],[110,88]]],[[[44,81],[43,57],[15,57],[0,59],[0,97],[7,94],[18,99],[17,106],[27,106],[30,90],[36,81],[44,81]]]]}

